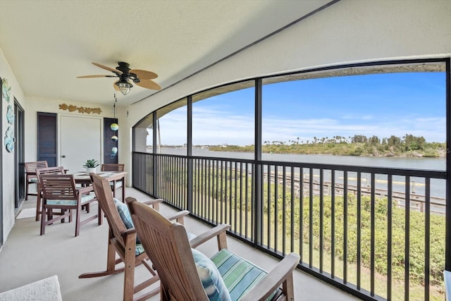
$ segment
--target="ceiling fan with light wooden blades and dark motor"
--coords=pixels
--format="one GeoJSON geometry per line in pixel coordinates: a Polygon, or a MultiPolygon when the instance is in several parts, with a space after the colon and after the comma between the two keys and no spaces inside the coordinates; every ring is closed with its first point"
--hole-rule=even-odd
{"type": "Polygon", "coordinates": [[[114,75],[84,75],[78,76],[77,78],[119,78],[119,80],[113,83],[113,87],[115,90],[121,91],[124,95],[127,95],[128,92],[130,92],[130,88],[133,87],[129,80],[132,80],[136,85],[146,89],[161,89],[160,85],[153,81],[154,78],[158,78],[158,75],[151,71],[130,69],[130,65],[122,61],[118,63],[116,69],[109,68],[100,63],[93,62],[92,64],[105,70],[109,70],[114,73],[114,75]]]}

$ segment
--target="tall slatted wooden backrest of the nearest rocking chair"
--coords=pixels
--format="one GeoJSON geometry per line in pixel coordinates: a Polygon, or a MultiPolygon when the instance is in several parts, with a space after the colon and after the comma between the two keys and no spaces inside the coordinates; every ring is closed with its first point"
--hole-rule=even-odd
{"type": "Polygon", "coordinates": [[[132,197],[127,201],[137,235],[159,275],[161,292],[168,294],[166,300],[208,300],[199,277],[193,277],[197,269],[185,227],[132,197]]]}

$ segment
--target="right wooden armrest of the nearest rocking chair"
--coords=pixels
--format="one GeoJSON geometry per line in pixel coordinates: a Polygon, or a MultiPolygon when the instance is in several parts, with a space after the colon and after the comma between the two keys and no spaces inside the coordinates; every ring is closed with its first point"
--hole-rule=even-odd
{"type": "Polygon", "coordinates": [[[299,264],[300,256],[296,253],[290,253],[277,266],[274,267],[257,285],[240,299],[240,301],[265,300],[273,293],[276,288],[283,283],[283,289],[293,289],[293,271],[299,264]],[[284,283],[290,281],[291,283],[284,283]],[[287,288],[288,286],[288,288],[287,288]]]}

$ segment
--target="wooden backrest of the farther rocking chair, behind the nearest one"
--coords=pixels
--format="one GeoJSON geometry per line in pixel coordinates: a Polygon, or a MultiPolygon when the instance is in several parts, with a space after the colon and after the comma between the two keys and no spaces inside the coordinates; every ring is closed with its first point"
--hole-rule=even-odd
{"type": "Polygon", "coordinates": [[[111,186],[108,180],[101,178],[95,173],[90,173],[94,192],[99,202],[99,206],[105,214],[106,221],[108,221],[111,236],[116,239],[116,242],[122,247],[125,247],[122,233],[127,230],[121,216],[119,216],[116,204],[114,204],[113,195],[111,193],[111,186]]]}

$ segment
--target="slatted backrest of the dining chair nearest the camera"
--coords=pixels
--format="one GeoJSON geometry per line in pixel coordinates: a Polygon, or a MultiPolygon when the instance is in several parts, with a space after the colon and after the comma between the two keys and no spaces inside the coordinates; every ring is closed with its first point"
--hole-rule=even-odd
{"type": "Polygon", "coordinates": [[[78,198],[73,175],[40,174],[39,184],[42,187],[42,197],[44,199],[71,200],[78,198]]]}

